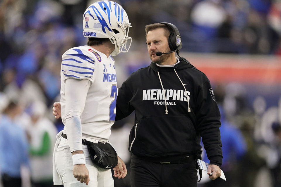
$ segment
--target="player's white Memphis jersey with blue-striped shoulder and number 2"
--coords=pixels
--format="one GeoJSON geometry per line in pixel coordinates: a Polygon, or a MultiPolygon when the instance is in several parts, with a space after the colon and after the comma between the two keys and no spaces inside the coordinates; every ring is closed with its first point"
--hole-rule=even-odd
{"type": "MultiPolygon", "coordinates": [[[[92,82],[81,115],[83,138],[108,140],[116,115],[117,82],[114,59],[90,46],[66,51],[61,63],[61,118],[65,124],[65,80],[92,82]]],[[[73,88],[75,89],[75,88],[73,88]]]]}

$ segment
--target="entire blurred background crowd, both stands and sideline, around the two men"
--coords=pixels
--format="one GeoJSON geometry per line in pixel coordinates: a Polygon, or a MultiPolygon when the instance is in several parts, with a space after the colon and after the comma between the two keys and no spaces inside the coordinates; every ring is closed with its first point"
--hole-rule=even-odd
{"type": "MultiPolygon", "coordinates": [[[[0,153],[21,142],[17,144],[22,148],[21,154],[8,158],[22,160],[20,164],[30,171],[33,186],[46,185],[52,178],[50,157],[56,133],[63,128],[61,120],[52,116],[51,109],[53,102],[60,99],[61,56],[71,47],[86,45],[82,18],[86,7],[93,2],[0,1],[0,128],[3,128],[0,153]],[[20,139],[13,139],[15,129],[20,139]]],[[[129,36],[133,37],[129,53],[115,58],[119,63],[116,70],[119,86],[131,72],[149,64],[144,28],[155,22],[170,22],[178,27],[183,41],[181,52],[281,55],[281,2],[278,0],[116,2],[129,16],[132,24],[129,36]]],[[[243,84],[213,84],[223,114],[222,170],[227,178],[227,181],[217,179],[215,185],[281,186],[281,100],[267,107],[261,96],[249,106],[243,84]]],[[[114,147],[128,169],[127,144],[132,118],[116,122],[111,136],[112,140],[119,138],[123,142],[114,147]]],[[[7,154],[0,154],[0,160],[5,157],[7,154]]],[[[8,162],[6,166],[0,165],[0,171],[7,165],[8,162]]],[[[17,169],[15,176],[19,174],[17,169]]],[[[116,181],[116,186],[129,186],[128,180],[129,176],[116,181]]],[[[214,183],[202,179],[198,185],[207,187],[214,183]]]]}

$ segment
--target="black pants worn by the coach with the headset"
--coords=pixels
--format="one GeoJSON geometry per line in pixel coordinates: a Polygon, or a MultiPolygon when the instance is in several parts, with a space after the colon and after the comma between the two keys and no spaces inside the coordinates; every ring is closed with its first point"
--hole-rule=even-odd
{"type": "Polygon", "coordinates": [[[195,161],[183,164],[160,164],[131,159],[131,187],[196,187],[195,161]]]}

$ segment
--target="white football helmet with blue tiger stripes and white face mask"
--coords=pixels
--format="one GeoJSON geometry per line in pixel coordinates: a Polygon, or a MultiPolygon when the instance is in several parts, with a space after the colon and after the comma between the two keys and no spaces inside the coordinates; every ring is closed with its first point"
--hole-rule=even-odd
{"type": "Polygon", "coordinates": [[[122,6],[113,1],[97,1],[86,9],[83,16],[84,37],[109,38],[115,45],[112,56],[128,52],[132,43],[132,38],[128,37],[131,23],[122,6]]]}

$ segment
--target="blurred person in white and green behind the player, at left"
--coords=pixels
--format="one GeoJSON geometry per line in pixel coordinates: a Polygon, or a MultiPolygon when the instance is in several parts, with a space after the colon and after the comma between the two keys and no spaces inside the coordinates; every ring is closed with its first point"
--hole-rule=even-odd
{"type": "Polygon", "coordinates": [[[29,135],[29,154],[32,187],[53,187],[52,158],[57,129],[45,117],[47,106],[34,101],[30,106],[31,124],[27,127],[29,135]]]}

